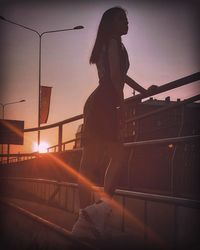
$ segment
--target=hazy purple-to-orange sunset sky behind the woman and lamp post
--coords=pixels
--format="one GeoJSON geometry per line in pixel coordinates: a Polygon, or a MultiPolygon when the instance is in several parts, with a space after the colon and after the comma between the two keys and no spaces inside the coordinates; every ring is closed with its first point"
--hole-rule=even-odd
{"type": "MultiPolygon", "coordinates": [[[[3,1],[0,15],[37,30],[82,30],[45,34],[42,38],[42,85],[52,87],[47,124],[82,114],[98,78],[89,57],[104,11],[113,6],[127,10],[129,32],[122,37],[129,54],[128,75],[148,88],[199,71],[198,1],[3,1]]],[[[6,106],[5,119],[24,120],[25,128],[38,124],[38,36],[0,20],[0,103],[25,99],[6,106]]],[[[155,96],[186,99],[200,91],[200,82],[155,96]]],[[[132,89],[125,87],[125,97],[132,89]]],[[[1,108],[1,107],[0,107],[1,108]]],[[[0,110],[1,112],[1,110],[0,110]]],[[[0,113],[1,114],[1,113],[0,113]]],[[[81,121],[64,126],[63,141],[74,138],[81,121]]],[[[41,133],[41,140],[57,144],[57,129],[41,133]]],[[[13,152],[31,152],[36,133],[26,133],[24,146],[13,152]]]]}

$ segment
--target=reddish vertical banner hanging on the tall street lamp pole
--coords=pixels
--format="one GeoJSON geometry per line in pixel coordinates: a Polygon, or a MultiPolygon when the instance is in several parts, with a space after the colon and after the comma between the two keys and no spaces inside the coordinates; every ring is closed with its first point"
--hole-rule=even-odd
{"type": "Polygon", "coordinates": [[[46,123],[49,116],[52,87],[40,87],[40,124],[46,123]]]}

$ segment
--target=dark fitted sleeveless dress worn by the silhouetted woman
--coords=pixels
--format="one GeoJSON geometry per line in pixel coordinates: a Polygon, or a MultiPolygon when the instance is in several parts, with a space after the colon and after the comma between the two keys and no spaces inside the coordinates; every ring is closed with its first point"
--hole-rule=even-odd
{"type": "MultiPolygon", "coordinates": [[[[102,48],[97,70],[99,85],[87,99],[84,106],[83,144],[119,141],[119,119],[117,106],[119,100],[110,80],[107,47],[102,48]]],[[[118,42],[122,77],[129,67],[128,54],[118,42]]]]}

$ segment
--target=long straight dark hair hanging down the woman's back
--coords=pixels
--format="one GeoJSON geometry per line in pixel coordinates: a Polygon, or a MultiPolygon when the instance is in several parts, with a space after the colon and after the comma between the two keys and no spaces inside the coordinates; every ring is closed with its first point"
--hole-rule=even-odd
{"type": "Polygon", "coordinates": [[[126,13],[126,11],[121,7],[113,7],[104,12],[99,24],[95,44],[90,56],[90,64],[97,63],[102,46],[106,44],[112,36],[113,19],[115,15],[120,12],[126,13]]]}

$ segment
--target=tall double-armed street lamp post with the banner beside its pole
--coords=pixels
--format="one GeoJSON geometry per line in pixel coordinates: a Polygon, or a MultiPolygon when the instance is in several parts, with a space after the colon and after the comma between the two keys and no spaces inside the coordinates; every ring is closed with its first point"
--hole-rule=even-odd
{"type": "Polygon", "coordinates": [[[64,32],[64,31],[70,31],[70,30],[79,30],[79,29],[83,29],[84,27],[82,25],[78,25],[78,26],[75,26],[74,28],[69,28],[69,29],[59,29],[59,30],[49,30],[49,31],[45,31],[45,32],[42,32],[42,33],[39,33],[37,30],[35,29],[32,29],[32,28],[29,28],[27,26],[24,26],[22,24],[19,24],[19,23],[16,23],[16,22],[13,22],[11,20],[8,20],[6,19],[5,17],[2,17],[0,16],[0,19],[5,21],[5,22],[8,22],[8,23],[11,23],[11,24],[14,24],[14,25],[17,25],[21,28],[24,28],[24,29],[27,29],[29,31],[32,31],[34,32],[35,34],[37,34],[38,38],[39,38],[39,74],[38,74],[38,146],[40,144],[40,91],[41,91],[41,58],[42,58],[42,37],[43,35],[45,34],[50,34],[50,33],[56,33],[56,32],[64,32]]]}

